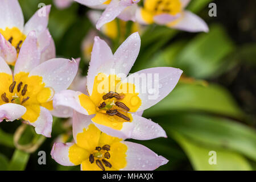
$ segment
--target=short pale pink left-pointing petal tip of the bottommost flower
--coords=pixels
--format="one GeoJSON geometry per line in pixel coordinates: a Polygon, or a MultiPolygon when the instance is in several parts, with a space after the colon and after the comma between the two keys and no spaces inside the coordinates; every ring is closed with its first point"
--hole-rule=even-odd
{"type": "Polygon", "coordinates": [[[73,146],[75,143],[54,143],[51,150],[52,159],[62,166],[75,166],[69,160],[69,147],[73,146]]]}

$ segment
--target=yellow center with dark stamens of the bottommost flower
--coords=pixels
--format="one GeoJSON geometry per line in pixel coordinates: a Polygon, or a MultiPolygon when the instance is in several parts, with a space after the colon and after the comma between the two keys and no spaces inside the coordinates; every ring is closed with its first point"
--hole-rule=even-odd
{"type": "Polygon", "coordinates": [[[119,170],[127,165],[127,146],[121,143],[122,139],[101,133],[93,124],[77,134],[76,140],[69,147],[69,160],[82,164],[83,170],[119,170]]]}

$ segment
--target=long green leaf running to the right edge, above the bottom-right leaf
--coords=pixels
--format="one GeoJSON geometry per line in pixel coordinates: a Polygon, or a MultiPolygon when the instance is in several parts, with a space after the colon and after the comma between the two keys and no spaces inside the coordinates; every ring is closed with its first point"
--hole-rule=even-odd
{"type": "Polygon", "coordinates": [[[207,114],[171,114],[158,117],[167,133],[179,134],[204,146],[239,152],[256,161],[256,132],[230,119],[207,114]]]}

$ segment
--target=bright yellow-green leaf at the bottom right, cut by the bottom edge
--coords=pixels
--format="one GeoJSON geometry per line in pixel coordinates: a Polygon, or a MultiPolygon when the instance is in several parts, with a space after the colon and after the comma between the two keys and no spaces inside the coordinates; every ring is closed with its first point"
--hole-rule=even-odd
{"type": "Polygon", "coordinates": [[[249,171],[250,164],[243,156],[236,152],[220,150],[214,147],[204,147],[200,144],[193,143],[191,140],[180,134],[174,134],[177,142],[180,143],[187,153],[190,162],[195,170],[204,171],[249,171]],[[216,152],[216,164],[209,164],[210,151],[216,152]]]}

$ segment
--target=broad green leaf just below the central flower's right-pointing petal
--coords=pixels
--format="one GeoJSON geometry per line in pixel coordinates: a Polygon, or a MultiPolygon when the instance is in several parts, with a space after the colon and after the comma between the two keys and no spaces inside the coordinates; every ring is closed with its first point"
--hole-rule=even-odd
{"type": "Polygon", "coordinates": [[[207,111],[242,118],[243,113],[229,92],[221,86],[209,84],[180,83],[158,104],[147,109],[144,114],[148,117],[168,113],[169,111],[207,111]]]}

